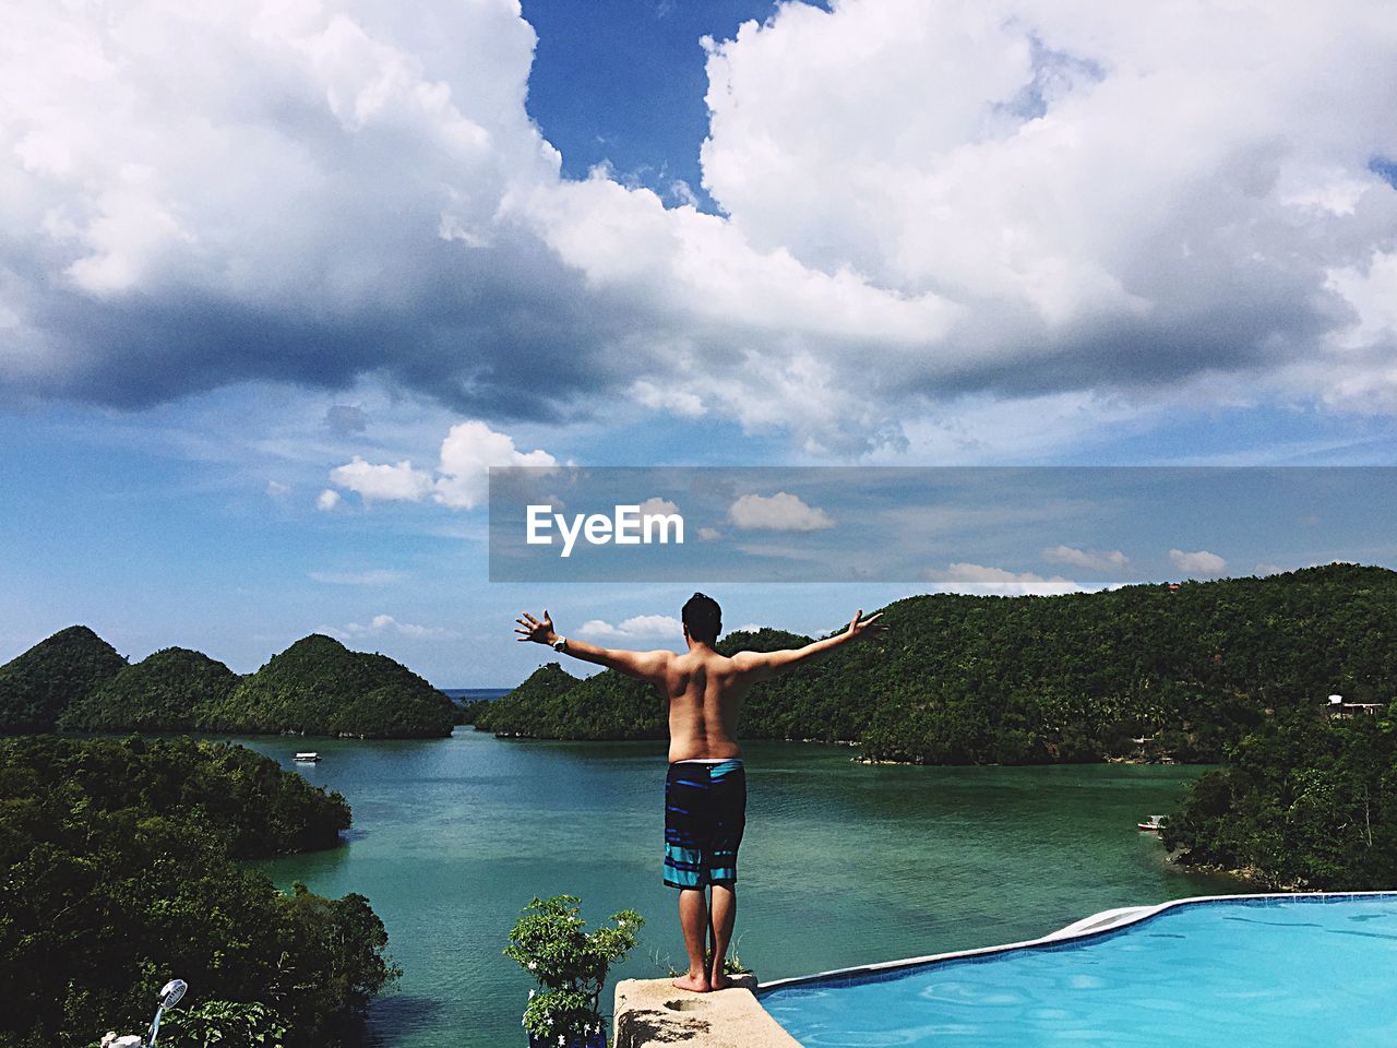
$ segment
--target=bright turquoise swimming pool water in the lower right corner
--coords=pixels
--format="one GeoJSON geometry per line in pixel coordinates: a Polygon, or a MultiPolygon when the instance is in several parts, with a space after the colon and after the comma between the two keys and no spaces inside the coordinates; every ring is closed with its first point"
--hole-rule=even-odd
{"type": "Polygon", "coordinates": [[[807,1048],[1397,1045],[1397,894],[1190,903],[1085,939],[774,988],[807,1048]]]}

